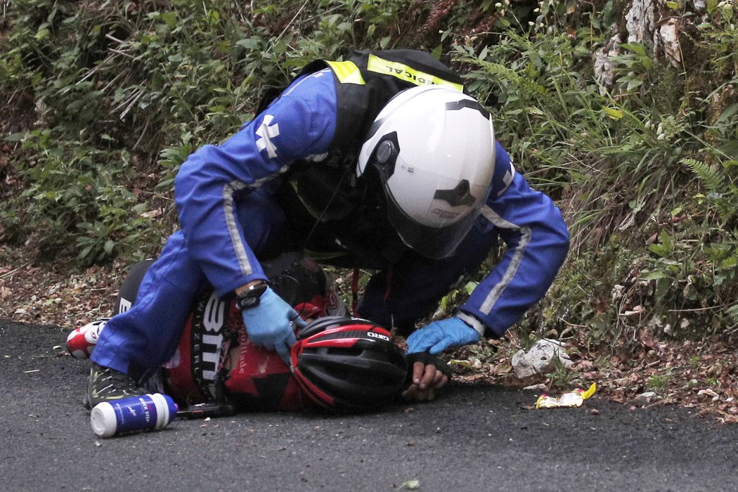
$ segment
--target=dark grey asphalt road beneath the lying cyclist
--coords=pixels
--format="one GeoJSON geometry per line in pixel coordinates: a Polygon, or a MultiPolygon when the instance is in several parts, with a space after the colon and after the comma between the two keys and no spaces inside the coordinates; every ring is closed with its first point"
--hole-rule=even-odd
{"type": "Polygon", "coordinates": [[[66,330],[0,319],[0,480],[6,491],[723,491],[738,426],[596,396],[531,409],[534,392],[451,384],[370,415],[242,414],[97,438],[88,364],[66,330]],[[55,348],[55,346],[58,346],[55,348]]]}

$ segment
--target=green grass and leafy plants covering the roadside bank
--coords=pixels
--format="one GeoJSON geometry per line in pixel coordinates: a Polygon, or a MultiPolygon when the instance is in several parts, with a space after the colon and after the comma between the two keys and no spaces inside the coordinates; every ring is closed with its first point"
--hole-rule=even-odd
{"type": "Polygon", "coordinates": [[[733,333],[735,6],[708,2],[683,32],[680,66],[628,44],[602,86],[593,55],[621,3],[10,2],[0,96],[13,161],[0,178],[15,183],[0,185],[0,240],[80,266],[156,254],[176,227],[179,165],[252,117],[267,89],[349,48],[416,47],[464,73],[516,167],[570,226],[568,262],[520,322],[522,339],[580,331],[627,349],[644,326],[733,333]]]}

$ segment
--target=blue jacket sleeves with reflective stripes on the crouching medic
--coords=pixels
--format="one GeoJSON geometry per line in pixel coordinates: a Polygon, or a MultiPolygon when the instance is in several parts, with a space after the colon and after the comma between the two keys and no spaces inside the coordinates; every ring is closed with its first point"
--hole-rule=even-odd
{"type": "MultiPolygon", "coordinates": [[[[336,94],[331,69],[300,77],[237,134],[182,164],[175,181],[182,233],[218,295],[266,279],[257,254],[275,232],[274,193],[292,164],[325,162],[336,132],[336,94]],[[241,206],[252,211],[248,217],[241,206]]],[[[500,336],[548,290],[568,251],[568,232],[551,199],[528,187],[499,143],[477,228],[497,232],[507,250],[460,309],[465,321],[500,336]]]]}

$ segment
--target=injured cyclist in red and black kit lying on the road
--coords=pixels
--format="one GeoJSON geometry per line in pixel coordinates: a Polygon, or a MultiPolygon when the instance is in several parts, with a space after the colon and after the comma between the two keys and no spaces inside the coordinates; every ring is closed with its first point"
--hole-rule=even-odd
{"type": "MultiPolygon", "coordinates": [[[[150,265],[131,268],[114,313],[131,308],[150,265]]],[[[272,288],[308,322],[296,330],[288,363],[249,340],[234,299],[218,299],[206,289],[187,317],[174,356],[145,376],[139,392],[165,392],[184,417],[303,409],[364,412],[401,400],[414,356],[408,362],[389,331],[347,316],[323,270],[310,260],[285,254],[264,267],[272,288]]],[[[89,357],[107,320],[70,333],[69,352],[89,357]]],[[[433,362],[445,378],[450,376],[440,358],[433,362]]]]}

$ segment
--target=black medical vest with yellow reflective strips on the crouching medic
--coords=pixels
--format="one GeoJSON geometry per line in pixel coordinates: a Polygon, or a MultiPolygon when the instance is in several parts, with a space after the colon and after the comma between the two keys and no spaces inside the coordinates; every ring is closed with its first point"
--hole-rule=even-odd
{"type": "Polygon", "coordinates": [[[384,191],[356,178],[356,158],[370,125],[396,94],[438,84],[465,91],[461,77],[427,52],[354,51],[344,61],[315,60],[297,77],[329,68],[337,97],[336,130],[323,162],[292,165],[277,194],[304,249],[337,266],[384,268],[407,246],[390,226],[384,191]],[[317,221],[317,224],[316,224],[317,221]]]}

